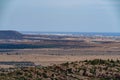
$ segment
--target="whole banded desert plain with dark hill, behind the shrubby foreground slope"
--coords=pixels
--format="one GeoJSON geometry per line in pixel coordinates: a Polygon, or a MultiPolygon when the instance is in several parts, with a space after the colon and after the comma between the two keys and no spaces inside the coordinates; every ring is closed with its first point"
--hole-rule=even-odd
{"type": "Polygon", "coordinates": [[[120,59],[119,37],[23,35],[14,31],[1,32],[1,36],[0,62],[28,61],[46,66],[93,59],[120,59]]]}

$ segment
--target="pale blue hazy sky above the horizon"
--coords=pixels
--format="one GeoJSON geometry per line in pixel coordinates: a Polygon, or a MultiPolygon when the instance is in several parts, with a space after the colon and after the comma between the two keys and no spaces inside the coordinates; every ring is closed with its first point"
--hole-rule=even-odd
{"type": "Polygon", "coordinates": [[[120,0],[0,0],[0,30],[120,32],[120,0]]]}

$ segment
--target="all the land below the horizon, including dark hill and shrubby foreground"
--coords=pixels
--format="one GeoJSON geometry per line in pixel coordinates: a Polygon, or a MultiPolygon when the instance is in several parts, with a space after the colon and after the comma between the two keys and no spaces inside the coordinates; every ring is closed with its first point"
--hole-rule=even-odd
{"type": "Polygon", "coordinates": [[[0,31],[0,80],[120,80],[120,37],[0,31]]]}

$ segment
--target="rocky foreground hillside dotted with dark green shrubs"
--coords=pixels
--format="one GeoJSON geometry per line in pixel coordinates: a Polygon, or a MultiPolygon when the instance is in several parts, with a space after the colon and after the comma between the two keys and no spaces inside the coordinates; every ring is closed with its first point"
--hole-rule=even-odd
{"type": "Polygon", "coordinates": [[[95,59],[48,67],[1,69],[0,80],[120,80],[120,61],[95,59]]]}

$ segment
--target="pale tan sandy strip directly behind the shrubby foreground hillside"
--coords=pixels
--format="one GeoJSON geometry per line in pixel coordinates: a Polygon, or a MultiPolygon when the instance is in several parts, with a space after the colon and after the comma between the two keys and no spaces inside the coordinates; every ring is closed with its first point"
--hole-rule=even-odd
{"type": "Polygon", "coordinates": [[[31,61],[37,65],[52,65],[63,62],[83,61],[92,59],[120,59],[120,55],[42,55],[42,54],[22,54],[22,55],[0,55],[0,61],[31,61]]]}

